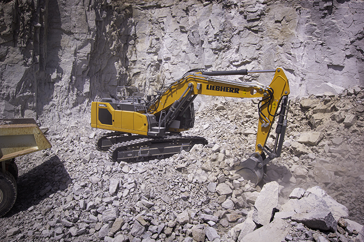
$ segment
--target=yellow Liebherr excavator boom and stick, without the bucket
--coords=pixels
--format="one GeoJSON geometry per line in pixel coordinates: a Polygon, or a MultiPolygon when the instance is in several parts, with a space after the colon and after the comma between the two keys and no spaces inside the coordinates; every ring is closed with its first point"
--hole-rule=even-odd
{"type": "MultiPolygon", "coordinates": [[[[275,72],[272,82],[266,86],[260,83],[232,81],[216,78],[217,75],[247,75],[258,71],[247,70],[234,72],[196,72],[187,73],[183,78],[175,81],[157,95],[148,107],[151,113],[159,116],[165,111],[163,122],[166,126],[173,122],[173,118],[180,115],[184,108],[193,101],[196,95],[222,96],[234,98],[262,98],[258,104],[259,120],[255,151],[261,152],[266,145],[274,117],[282,98],[287,100],[290,93],[285,73],[281,69],[260,72],[275,72]],[[259,145],[260,144],[260,145],[259,145]]],[[[283,105],[287,105],[287,101],[283,105]],[[285,104],[286,103],[286,104],[285,104]]],[[[281,115],[284,115],[281,114],[281,115]]]]}

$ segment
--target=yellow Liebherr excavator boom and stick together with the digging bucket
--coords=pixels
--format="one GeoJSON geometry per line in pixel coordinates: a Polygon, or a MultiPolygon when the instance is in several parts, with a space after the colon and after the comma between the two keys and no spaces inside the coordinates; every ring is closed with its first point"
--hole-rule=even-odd
{"type": "Polygon", "coordinates": [[[183,114],[197,95],[223,96],[234,98],[261,98],[258,103],[258,130],[255,153],[235,167],[237,173],[245,179],[257,184],[264,175],[264,166],[280,156],[284,141],[288,111],[288,95],[290,93],[288,79],[280,68],[265,71],[226,71],[226,72],[194,72],[173,82],[156,96],[149,106],[156,116],[166,112],[161,119],[168,127],[174,118],[183,114]],[[260,83],[232,81],[215,76],[248,75],[249,73],[274,72],[272,82],[266,86],[260,83]],[[280,111],[278,112],[278,109],[280,111]],[[276,128],[276,142],[272,149],[266,146],[274,118],[279,116],[276,128]]]}

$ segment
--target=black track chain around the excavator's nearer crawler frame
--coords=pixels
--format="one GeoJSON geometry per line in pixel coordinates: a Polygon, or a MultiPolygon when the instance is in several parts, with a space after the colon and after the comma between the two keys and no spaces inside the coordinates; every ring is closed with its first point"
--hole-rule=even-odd
{"type": "MultiPolygon", "coordinates": [[[[127,150],[130,146],[135,146],[137,145],[137,147],[142,146],[142,145],[147,145],[148,142],[151,143],[158,143],[158,142],[166,142],[169,143],[170,141],[173,141],[175,139],[184,139],[186,141],[195,141],[197,144],[208,144],[207,140],[203,137],[198,137],[198,136],[179,136],[179,135],[169,135],[169,136],[161,136],[161,137],[153,137],[153,138],[140,138],[140,139],[135,139],[135,140],[131,140],[131,141],[126,141],[126,142],[120,142],[120,143],[116,143],[113,144],[110,148],[109,148],[109,158],[111,161],[113,162],[118,162],[117,161],[117,152],[119,150],[127,150]]],[[[155,158],[156,156],[149,156],[149,157],[145,157],[146,160],[148,159],[152,159],[155,158]]],[[[125,159],[125,161],[128,162],[133,162],[135,160],[135,158],[130,158],[130,159],[125,159]]]]}

